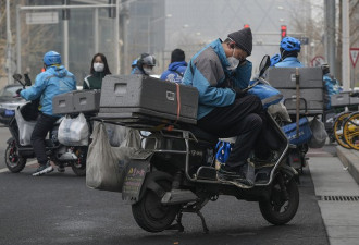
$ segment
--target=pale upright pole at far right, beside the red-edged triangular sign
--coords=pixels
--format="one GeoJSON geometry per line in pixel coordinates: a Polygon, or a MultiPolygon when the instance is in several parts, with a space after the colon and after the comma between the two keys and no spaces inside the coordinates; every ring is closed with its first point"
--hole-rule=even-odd
{"type": "Polygon", "coordinates": [[[343,7],[343,52],[342,52],[342,82],[343,82],[343,89],[349,90],[350,88],[350,63],[349,63],[349,45],[350,45],[350,37],[349,37],[349,0],[342,0],[343,7]]]}

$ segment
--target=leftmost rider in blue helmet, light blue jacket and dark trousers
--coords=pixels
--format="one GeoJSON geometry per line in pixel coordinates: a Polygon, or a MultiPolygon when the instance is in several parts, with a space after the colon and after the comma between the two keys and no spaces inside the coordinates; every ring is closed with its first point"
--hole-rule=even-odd
{"type": "MultiPolygon", "coordinates": [[[[33,173],[39,176],[53,171],[53,168],[46,155],[45,138],[52,128],[60,115],[52,113],[52,98],[57,95],[76,90],[76,78],[63,65],[61,65],[61,56],[55,51],[49,51],[44,56],[45,72],[36,76],[35,84],[21,90],[18,94],[26,100],[40,98],[40,112],[37,118],[30,140],[37,158],[39,168],[33,173]]],[[[64,171],[60,167],[60,172],[64,171]]]]}

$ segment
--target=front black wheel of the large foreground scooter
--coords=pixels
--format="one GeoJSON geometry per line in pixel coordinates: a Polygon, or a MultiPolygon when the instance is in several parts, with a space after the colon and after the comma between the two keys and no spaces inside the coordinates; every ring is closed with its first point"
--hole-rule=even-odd
{"type": "Polygon", "coordinates": [[[286,201],[281,193],[277,177],[273,181],[270,199],[259,201],[259,208],[263,218],[275,225],[289,222],[297,213],[299,206],[299,191],[294,177],[284,180],[289,199],[286,201]]]}

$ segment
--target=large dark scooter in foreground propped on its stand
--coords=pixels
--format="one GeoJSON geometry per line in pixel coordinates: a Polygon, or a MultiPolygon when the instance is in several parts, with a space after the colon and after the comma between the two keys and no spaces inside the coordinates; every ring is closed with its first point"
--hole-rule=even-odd
{"type": "MultiPolygon", "coordinates": [[[[270,58],[265,56],[258,79],[262,79],[269,65],[270,58]]],[[[214,158],[218,138],[197,126],[181,124],[159,128],[117,120],[123,125],[151,132],[144,136],[145,148],[131,157],[122,172],[122,196],[132,204],[137,224],[148,232],[183,231],[183,212],[194,212],[208,232],[200,210],[220,195],[258,201],[262,216],[272,224],[289,222],[299,205],[297,172],[286,162],[289,148],[286,135],[271,114],[268,113],[268,118],[272,150],[278,152],[278,158],[272,164],[252,162],[256,167],[253,186],[218,180],[214,158]],[[172,225],[174,220],[176,224],[172,225]]]]}

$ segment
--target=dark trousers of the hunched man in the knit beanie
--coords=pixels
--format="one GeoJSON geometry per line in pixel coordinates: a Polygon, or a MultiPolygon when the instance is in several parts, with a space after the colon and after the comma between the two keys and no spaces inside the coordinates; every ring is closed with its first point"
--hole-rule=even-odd
{"type": "Polygon", "coordinates": [[[237,168],[246,163],[250,150],[264,154],[265,144],[260,138],[267,127],[267,114],[257,96],[246,95],[227,107],[215,108],[197,125],[218,137],[234,137],[234,144],[227,166],[237,168]]]}

